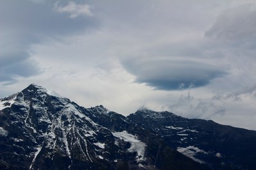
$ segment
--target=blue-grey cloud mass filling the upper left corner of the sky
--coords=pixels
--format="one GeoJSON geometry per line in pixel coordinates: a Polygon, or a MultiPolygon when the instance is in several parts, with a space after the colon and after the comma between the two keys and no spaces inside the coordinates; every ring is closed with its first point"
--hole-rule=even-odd
{"type": "Polygon", "coordinates": [[[28,51],[33,43],[51,42],[51,39],[82,33],[97,26],[96,20],[83,15],[84,6],[90,12],[87,4],[76,6],[72,3],[70,10],[70,4],[62,1],[63,4],[55,6],[63,8],[67,4],[68,8],[66,13],[60,13],[54,9],[54,2],[33,2],[0,1],[0,82],[12,83],[17,77],[40,73],[28,51]],[[79,8],[78,11],[76,8],[79,8]],[[75,19],[69,17],[72,13],[76,13],[75,19]]]}

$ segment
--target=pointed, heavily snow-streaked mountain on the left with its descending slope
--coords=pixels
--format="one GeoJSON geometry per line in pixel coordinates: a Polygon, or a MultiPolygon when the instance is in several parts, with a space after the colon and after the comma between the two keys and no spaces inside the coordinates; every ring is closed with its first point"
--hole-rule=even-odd
{"type": "Polygon", "coordinates": [[[31,84],[0,99],[0,169],[209,169],[152,129],[31,84]]]}

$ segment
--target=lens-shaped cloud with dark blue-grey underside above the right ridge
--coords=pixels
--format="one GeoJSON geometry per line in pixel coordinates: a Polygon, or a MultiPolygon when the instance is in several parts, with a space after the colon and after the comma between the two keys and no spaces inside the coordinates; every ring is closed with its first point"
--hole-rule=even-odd
{"type": "Polygon", "coordinates": [[[224,71],[205,63],[173,59],[131,59],[124,61],[136,81],[155,89],[173,90],[205,86],[224,71]]]}

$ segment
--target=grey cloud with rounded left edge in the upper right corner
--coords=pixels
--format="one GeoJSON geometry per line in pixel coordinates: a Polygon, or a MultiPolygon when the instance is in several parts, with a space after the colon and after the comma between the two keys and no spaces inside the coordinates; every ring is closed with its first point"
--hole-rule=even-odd
{"type": "Polygon", "coordinates": [[[256,6],[245,4],[222,12],[205,36],[220,40],[255,40],[256,6]]]}

